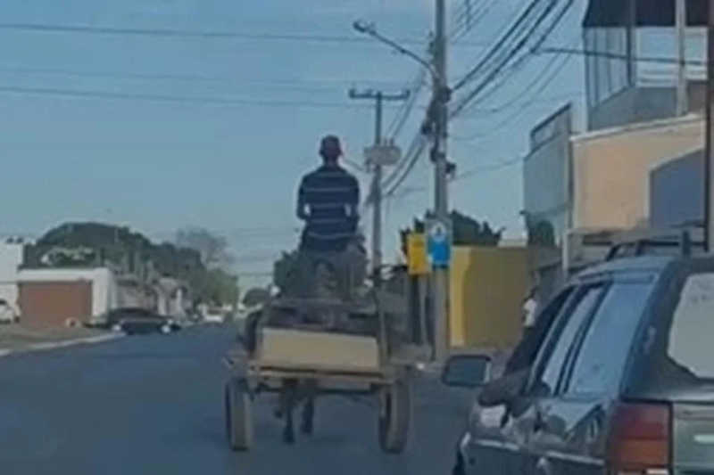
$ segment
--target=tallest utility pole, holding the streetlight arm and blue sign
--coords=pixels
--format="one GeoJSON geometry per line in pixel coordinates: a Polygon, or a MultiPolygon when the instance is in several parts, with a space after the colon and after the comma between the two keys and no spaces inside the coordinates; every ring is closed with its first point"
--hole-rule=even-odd
{"type": "MultiPolygon", "coordinates": [[[[714,0],[712,0],[714,1],[714,0]]],[[[434,161],[435,203],[436,219],[447,223],[449,218],[447,174],[447,141],[449,121],[449,96],[450,90],[447,78],[446,65],[446,2],[436,0],[436,37],[434,38],[434,148],[432,160],[434,161]]],[[[443,363],[449,356],[449,268],[448,266],[435,266],[433,277],[432,313],[434,315],[435,331],[435,356],[436,361],[443,363]]]]}

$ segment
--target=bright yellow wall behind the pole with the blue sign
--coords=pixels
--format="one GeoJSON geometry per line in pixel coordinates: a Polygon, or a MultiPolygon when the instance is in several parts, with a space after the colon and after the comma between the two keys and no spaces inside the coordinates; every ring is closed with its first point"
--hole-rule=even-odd
{"type": "Polygon", "coordinates": [[[530,286],[526,248],[455,247],[450,285],[452,347],[518,342],[530,286]]]}

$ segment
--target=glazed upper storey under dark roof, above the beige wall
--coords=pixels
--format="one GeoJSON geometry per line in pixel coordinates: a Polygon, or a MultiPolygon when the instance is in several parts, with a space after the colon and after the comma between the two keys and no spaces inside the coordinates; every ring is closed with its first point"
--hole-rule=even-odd
{"type": "MultiPolygon", "coordinates": [[[[689,111],[705,103],[708,0],[686,0],[685,70],[689,111]]],[[[590,0],[583,20],[590,130],[674,117],[675,0],[590,0]]]]}

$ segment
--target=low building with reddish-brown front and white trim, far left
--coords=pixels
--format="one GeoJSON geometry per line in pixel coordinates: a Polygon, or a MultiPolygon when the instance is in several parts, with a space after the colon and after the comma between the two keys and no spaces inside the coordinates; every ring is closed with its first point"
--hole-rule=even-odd
{"type": "Polygon", "coordinates": [[[70,319],[90,323],[116,308],[118,300],[116,279],[106,267],[21,269],[18,293],[21,323],[37,328],[70,319]]]}

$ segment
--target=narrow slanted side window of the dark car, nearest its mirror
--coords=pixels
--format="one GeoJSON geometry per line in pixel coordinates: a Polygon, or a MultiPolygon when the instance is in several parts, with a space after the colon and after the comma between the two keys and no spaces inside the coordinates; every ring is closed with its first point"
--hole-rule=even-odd
{"type": "Polygon", "coordinates": [[[543,367],[539,381],[535,384],[539,394],[552,396],[555,393],[569,348],[576,339],[578,330],[585,323],[585,319],[597,305],[602,289],[602,286],[594,286],[581,291],[577,296],[575,307],[569,315],[563,315],[559,327],[551,333],[552,345],[546,345],[542,351],[552,348],[552,352],[547,356],[547,363],[543,367]]]}

